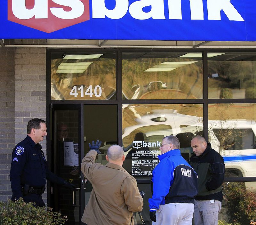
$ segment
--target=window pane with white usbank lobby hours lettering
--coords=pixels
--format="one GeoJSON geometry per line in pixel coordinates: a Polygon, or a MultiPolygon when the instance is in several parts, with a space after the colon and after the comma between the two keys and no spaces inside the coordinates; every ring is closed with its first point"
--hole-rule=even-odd
{"type": "Polygon", "coordinates": [[[150,178],[158,164],[162,139],[174,135],[188,160],[190,140],[203,131],[203,105],[123,105],[123,167],[135,178],[150,178]]]}

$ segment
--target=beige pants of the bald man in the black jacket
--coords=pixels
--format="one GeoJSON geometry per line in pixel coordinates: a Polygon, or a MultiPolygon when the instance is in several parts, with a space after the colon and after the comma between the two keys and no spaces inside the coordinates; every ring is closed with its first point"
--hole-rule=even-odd
{"type": "Polygon", "coordinates": [[[221,202],[214,200],[195,200],[195,225],[218,225],[221,202]]]}

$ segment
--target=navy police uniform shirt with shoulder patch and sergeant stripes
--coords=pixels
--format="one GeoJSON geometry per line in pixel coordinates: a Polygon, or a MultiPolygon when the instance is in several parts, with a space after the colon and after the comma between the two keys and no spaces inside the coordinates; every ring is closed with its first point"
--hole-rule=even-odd
{"type": "Polygon", "coordinates": [[[64,184],[64,180],[47,169],[41,144],[36,144],[29,136],[22,140],[12,151],[10,180],[13,196],[22,197],[21,185],[29,184],[34,188],[45,186],[45,180],[64,184]]]}

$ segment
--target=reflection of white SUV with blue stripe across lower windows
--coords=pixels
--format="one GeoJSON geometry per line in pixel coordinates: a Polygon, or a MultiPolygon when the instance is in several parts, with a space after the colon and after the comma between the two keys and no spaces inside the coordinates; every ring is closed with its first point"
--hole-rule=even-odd
{"type": "MultiPolygon", "coordinates": [[[[147,142],[162,141],[164,136],[174,135],[180,140],[181,152],[192,154],[190,140],[202,132],[202,118],[182,115],[176,110],[155,110],[141,116],[137,125],[124,129],[123,138],[134,130],[145,131],[147,142]],[[156,118],[163,117],[162,120],[156,118]],[[169,125],[166,130],[154,130],[154,125],[169,125]],[[151,130],[151,131],[150,131],[151,130]],[[180,136],[179,136],[180,135],[180,136]]],[[[221,154],[227,176],[256,176],[256,122],[254,120],[209,120],[209,142],[221,154]]],[[[128,147],[128,146],[127,146],[128,147]]],[[[158,148],[153,148],[158,150],[158,148]]],[[[125,149],[129,150],[128,148],[125,149]]],[[[127,153],[126,153],[127,154],[127,153]]],[[[246,182],[246,187],[256,188],[256,182],[246,182]]]]}

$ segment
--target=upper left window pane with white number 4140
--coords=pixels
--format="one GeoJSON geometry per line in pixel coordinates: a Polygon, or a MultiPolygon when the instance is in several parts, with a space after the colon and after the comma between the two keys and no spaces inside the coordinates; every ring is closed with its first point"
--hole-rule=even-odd
{"type": "Polygon", "coordinates": [[[116,53],[52,53],[52,100],[116,99],[116,53]]]}

